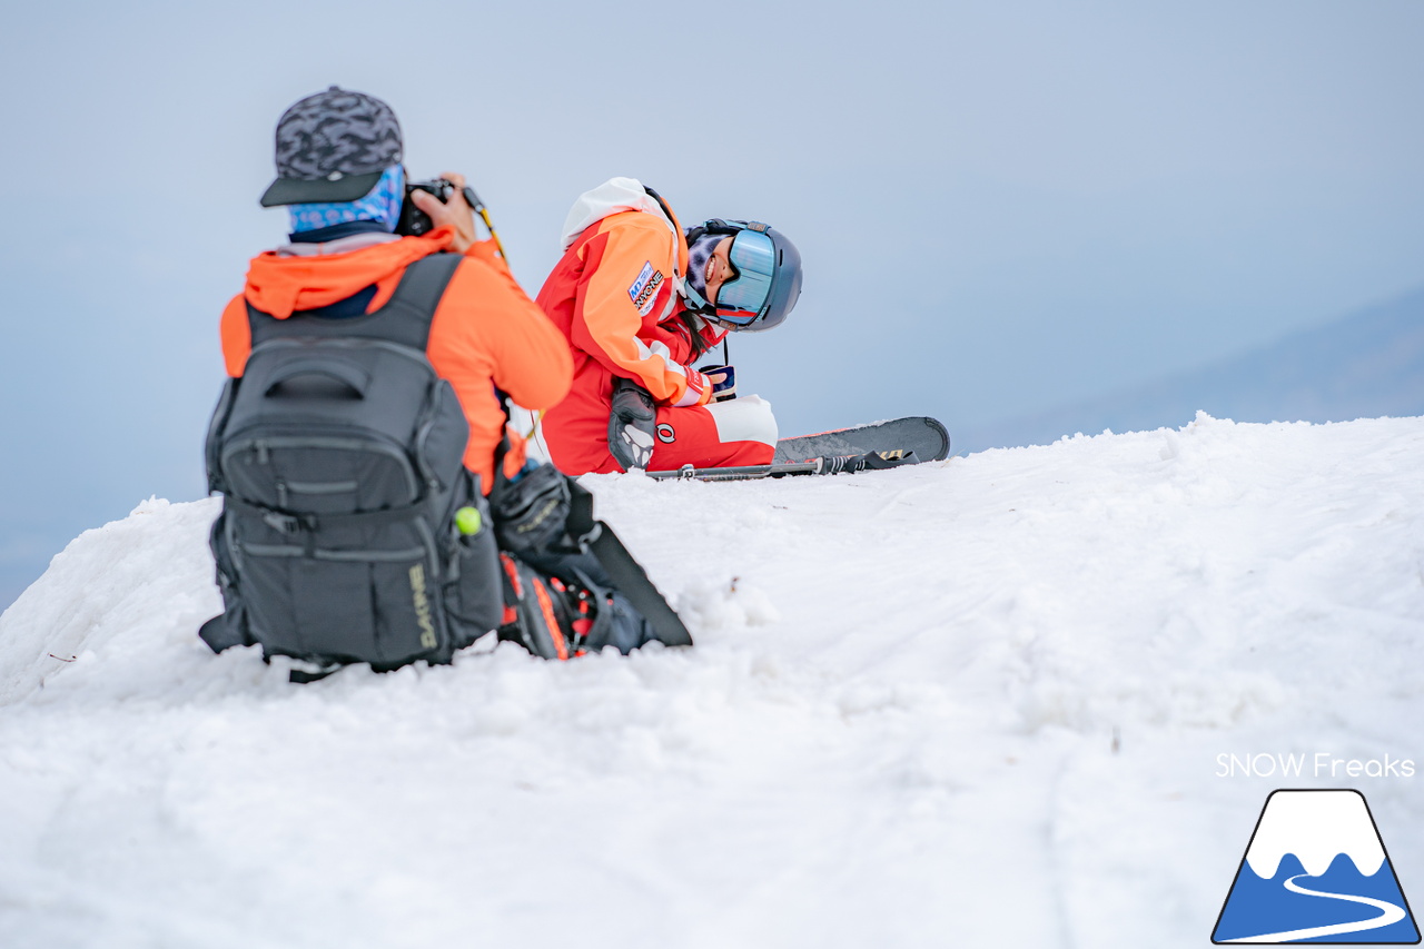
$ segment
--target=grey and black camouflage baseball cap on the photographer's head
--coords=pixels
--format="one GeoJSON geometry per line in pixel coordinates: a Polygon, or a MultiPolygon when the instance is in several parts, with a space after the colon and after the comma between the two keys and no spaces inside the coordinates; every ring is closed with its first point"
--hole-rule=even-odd
{"type": "Polygon", "coordinates": [[[400,164],[400,123],[375,95],[330,87],[282,113],[262,207],[355,201],[400,164]]]}

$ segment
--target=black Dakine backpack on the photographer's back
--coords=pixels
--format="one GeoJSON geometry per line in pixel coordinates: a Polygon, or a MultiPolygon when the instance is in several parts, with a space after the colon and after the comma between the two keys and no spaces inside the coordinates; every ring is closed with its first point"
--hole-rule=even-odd
{"type": "Polygon", "coordinates": [[[215,651],[261,644],[316,664],[293,670],[302,681],[346,663],[449,663],[500,626],[490,510],[463,465],[468,426],[426,358],[460,261],[412,264],[360,316],[278,321],[248,306],[252,355],[206,442],[225,611],[199,634],[215,651]]]}

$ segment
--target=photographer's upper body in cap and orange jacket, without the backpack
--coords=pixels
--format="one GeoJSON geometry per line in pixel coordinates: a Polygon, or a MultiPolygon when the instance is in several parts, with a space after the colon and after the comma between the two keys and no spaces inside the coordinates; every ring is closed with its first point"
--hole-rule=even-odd
{"type": "MultiPolygon", "coordinates": [[[[510,275],[493,241],[477,241],[464,177],[447,204],[412,191],[434,225],[419,237],[394,234],[406,194],[403,142],[386,103],[330,87],[292,105],[276,128],[278,178],[262,207],[288,207],[289,242],[252,258],[248,284],[222,313],[222,355],[241,376],[252,349],[249,305],[276,321],[293,313],[330,321],[384,305],[406,268],[441,251],[463,254],[430,321],[426,355],[447,379],[470,423],[466,466],[488,494],[506,415],[494,386],[523,406],[555,405],[568,392],[568,345],[510,275]]],[[[508,472],[524,463],[515,442],[508,472]]]]}

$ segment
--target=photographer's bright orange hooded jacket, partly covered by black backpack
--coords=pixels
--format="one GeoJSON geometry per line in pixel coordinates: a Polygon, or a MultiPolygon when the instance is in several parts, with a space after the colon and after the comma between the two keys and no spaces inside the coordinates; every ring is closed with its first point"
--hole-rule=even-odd
{"type": "MultiPolygon", "coordinates": [[[[346,254],[286,256],[268,251],[252,258],[248,282],[222,312],[222,358],[229,376],[241,376],[252,352],[246,304],[286,319],[293,312],[329,306],[376,285],[372,312],[396,292],[406,268],[450,245],[449,228],[406,237],[346,254]]],[[[504,409],[494,386],[527,409],[547,409],[568,392],[572,362],[568,343],[520,289],[490,241],[466,251],[436,306],[426,355],[449,379],[470,422],[464,465],[480,476],[486,493],[494,484],[494,449],[504,435],[504,409]]],[[[513,436],[513,432],[511,432],[513,436]]],[[[511,437],[506,457],[513,473],[524,463],[524,443],[511,437]]]]}

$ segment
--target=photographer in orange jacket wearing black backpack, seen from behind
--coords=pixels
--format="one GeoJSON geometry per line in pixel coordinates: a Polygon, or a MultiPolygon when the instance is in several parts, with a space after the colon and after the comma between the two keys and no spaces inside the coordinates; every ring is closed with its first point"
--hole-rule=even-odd
{"type": "Polygon", "coordinates": [[[412,185],[402,151],[386,103],[335,85],[278,123],[262,205],[288,208],[290,237],[222,313],[225,611],[201,636],[292,657],[295,681],[449,663],[496,628],[550,658],[635,648],[654,633],[590,553],[611,531],[507,432],[503,395],[568,392],[568,345],[476,239],[464,178],[412,185]]]}

